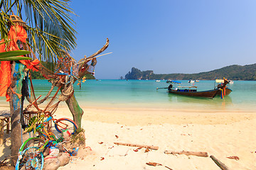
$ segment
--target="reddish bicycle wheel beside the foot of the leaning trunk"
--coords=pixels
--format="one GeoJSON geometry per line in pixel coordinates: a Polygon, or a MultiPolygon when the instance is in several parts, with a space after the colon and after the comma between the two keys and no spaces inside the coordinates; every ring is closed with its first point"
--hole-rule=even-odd
{"type": "Polygon", "coordinates": [[[55,121],[55,129],[60,133],[68,130],[73,135],[78,129],[78,125],[69,118],[60,118],[55,121]]]}

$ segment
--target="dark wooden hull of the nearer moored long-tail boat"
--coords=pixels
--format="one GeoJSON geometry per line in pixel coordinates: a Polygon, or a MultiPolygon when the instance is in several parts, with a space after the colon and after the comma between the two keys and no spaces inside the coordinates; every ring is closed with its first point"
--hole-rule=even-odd
{"type": "Polygon", "coordinates": [[[213,89],[209,91],[175,91],[174,89],[169,89],[168,91],[170,94],[178,94],[183,96],[214,98],[220,90],[213,89]]]}

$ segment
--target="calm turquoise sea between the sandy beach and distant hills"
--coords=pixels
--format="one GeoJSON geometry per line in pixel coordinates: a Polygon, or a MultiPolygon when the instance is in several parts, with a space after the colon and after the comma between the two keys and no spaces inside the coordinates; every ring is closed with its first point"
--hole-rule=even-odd
{"type": "MultiPolygon", "coordinates": [[[[182,86],[191,86],[182,80],[182,86]]],[[[198,91],[214,88],[215,81],[195,82],[198,91]]],[[[50,89],[47,80],[33,80],[36,96],[46,96],[50,89]]],[[[75,84],[75,97],[82,107],[87,108],[150,108],[175,111],[248,111],[256,112],[256,81],[234,81],[228,84],[233,90],[229,96],[221,99],[194,98],[168,94],[166,80],[87,80],[82,88],[75,84]]],[[[43,98],[43,97],[41,97],[43,98]]],[[[0,97],[0,106],[9,106],[4,97],[0,97]]],[[[61,106],[61,105],[60,105],[61,106]]],[[[65,104],[63,104],[65,106],[65,104]]]]}

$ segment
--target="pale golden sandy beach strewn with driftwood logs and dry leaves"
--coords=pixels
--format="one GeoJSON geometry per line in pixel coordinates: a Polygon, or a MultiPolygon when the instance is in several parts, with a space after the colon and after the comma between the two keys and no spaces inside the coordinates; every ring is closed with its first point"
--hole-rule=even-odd
{"type": "MultiPolygon", "coordinates": [[[[4,109],[4,108],[1,108],[4,109]]],[[[229,169],[256,169],[256,113],[151,110],[146,108],[82,108],[87,153],[72,157],[59,169],[220,169],[213,155],[229,169]],[[124,142],[159,149],[114,145],[124,142]],[[91,150],[90,150],[90,148],[91,150]],[[136,150],[137,149],[137,150],[136,150]],[[165,154],[164,151],[208,152],[209,157],[165,154]],[[228,157],[238,157],[239,160],[228,157]],[[156,162],[160,166],[146,163],[156,162]]],[[[61,106],[56,118],[72,118],[61,106]]],[[[9,156],[1,145],[1,160],[9,156]]]]}

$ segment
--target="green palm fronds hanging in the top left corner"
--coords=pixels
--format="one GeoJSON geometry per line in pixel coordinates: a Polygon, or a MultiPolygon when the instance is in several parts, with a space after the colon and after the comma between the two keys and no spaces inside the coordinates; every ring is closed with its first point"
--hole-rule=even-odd
{"type": "Polygon", "coordinates": [[[39,60],[55,61],[76,46],[74,11],[70,8],[70,0],[1,0],[0,30],[1,39],[7,41],[10,26],[10,14],[14,11],[26,21],[28,45],[39,60]]]}

